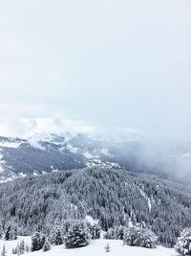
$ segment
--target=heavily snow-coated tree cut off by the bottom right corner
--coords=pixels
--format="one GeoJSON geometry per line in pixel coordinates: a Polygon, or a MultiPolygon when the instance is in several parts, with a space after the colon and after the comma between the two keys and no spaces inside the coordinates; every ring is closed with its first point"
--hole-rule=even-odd
{"type": "Polygon", "coordinates": [[[182,256],[191,256],[191,228],[185,228],[180,233],[175,249],[182,256]]]}

